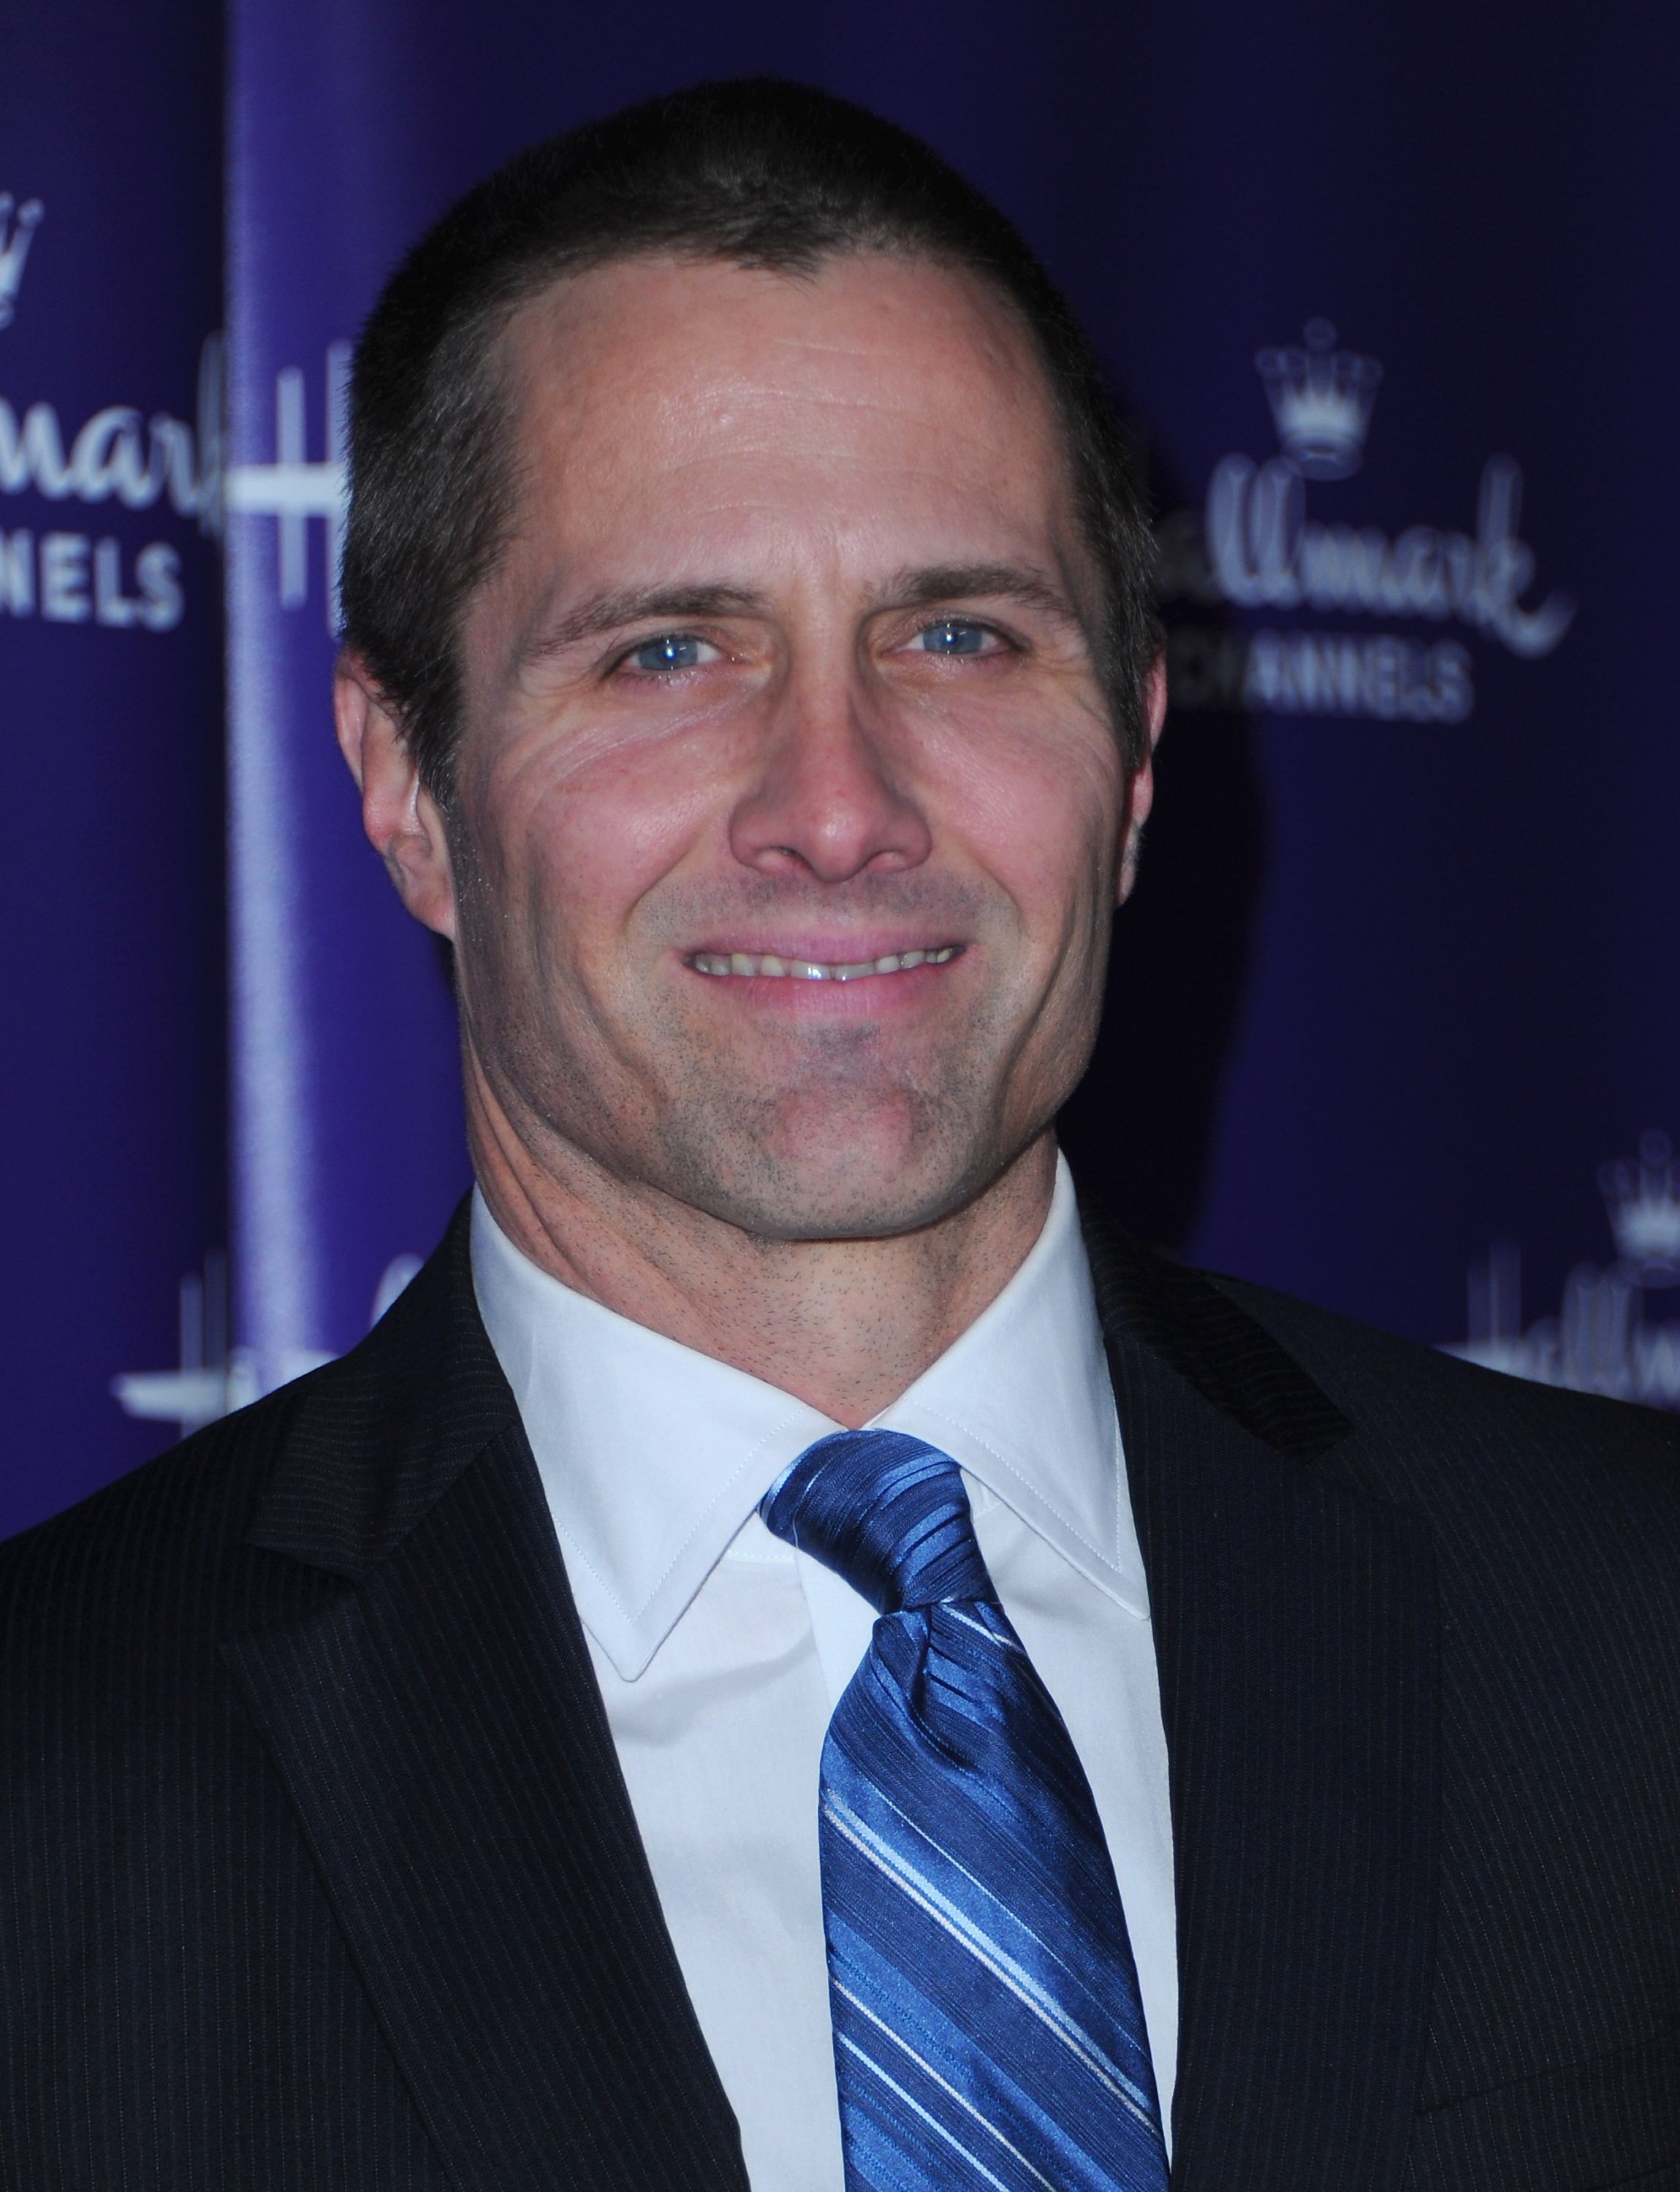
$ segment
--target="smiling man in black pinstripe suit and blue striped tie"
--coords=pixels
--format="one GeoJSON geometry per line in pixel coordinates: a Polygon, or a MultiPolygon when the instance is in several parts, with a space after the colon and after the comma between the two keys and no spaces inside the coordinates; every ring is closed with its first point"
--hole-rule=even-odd
{"type": "Polygon", "coordinates": [[[478,1190],[0,1556],[7,2181],[1680,2185],[1676,1427],[1059,1168],[1165,693],[1020,239],[616,116],[393,276],[353,482],[478,1190]]]}

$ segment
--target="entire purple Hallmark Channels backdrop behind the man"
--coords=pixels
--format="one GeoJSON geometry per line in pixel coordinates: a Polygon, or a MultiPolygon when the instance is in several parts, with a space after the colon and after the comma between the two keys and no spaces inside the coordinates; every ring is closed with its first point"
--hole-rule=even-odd
{"type": "MultiPolygon", "coordinates": [[[[1469,1315],[1489,1359],[1680,1401],[1669,1160],[1647,1140],[1610,1175],[1614,1241],[1599,1184],[1680,1124],[1673,31],[1239,0],[704,24],[669,0],[232,0],[224,101],[222,11],[154,15],[143,39],[66,0],[9,33],[0,94],[0,283],[20,204],[44,206],[0,329],[0,526],[35,537],[35,605],[0,566],[0,1528],[129,1466],[169,1412],[349,1346],[461,1192],[443,975],[331,743],[342,344],[502,153],[741,70],[864,99],[974,173],[1147,447],[1176,706],[1066,1122],[1086,1177],[1200,1260],[1419,1339],[1469,1315]],[[66,447],[112,403],[197,432],[224,142],[226,886],[213,498],[53,509],[22,427],[48,401],[66,447]],[[81,623],[42,612],[48,530],[88,537],[81,623]],[[105,535],[138,605],[121,627],[97,616],[105,535]],[[154,541],[180,559],[167,629],[136,566],[154,541]],[[226,1238],[224,1118],[230,1366],[215,1265],[184,1355],[175,1333],[182,1276],[226,1238]],[[125,1372],[154,1372],[123,1385],[149,1416],[112,1394],[125,1372]]],[[[53,555],[75,579],[79,550],[53,555]]]]}

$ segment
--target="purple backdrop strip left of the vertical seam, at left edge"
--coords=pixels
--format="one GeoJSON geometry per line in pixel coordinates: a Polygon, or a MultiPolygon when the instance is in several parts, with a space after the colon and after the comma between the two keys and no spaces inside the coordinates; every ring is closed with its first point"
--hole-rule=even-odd
{"type": "Polygon", "coordinates": [[[226,1243],[215,9],[9,15],[0,320],[4,1530],[156,1451],[226,1243]]]}

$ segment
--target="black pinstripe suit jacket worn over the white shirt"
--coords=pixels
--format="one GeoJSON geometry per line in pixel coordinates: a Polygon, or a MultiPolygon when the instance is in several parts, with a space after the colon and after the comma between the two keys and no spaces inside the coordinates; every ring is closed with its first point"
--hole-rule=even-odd
{"type": "MultiPolygon", "coordinates": [[[[1173,2185],[1680,2192],[1680,1425],[1090,1245],[1173,2185]]],[[[463,1219],[0,1620],[4,2185],[739,2192],[463,1219]]]]}

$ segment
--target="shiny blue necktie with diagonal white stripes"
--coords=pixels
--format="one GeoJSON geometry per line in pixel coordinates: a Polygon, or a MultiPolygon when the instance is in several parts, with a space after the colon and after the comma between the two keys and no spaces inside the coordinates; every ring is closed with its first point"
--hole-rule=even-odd
{"type": "Polygon", "coordinates": [[[761,1512],[882,1616],[822,1745],[847,2192],[1165,2192],[1103,1828],[956,1462],[838,1431],[761,1512]]]}

